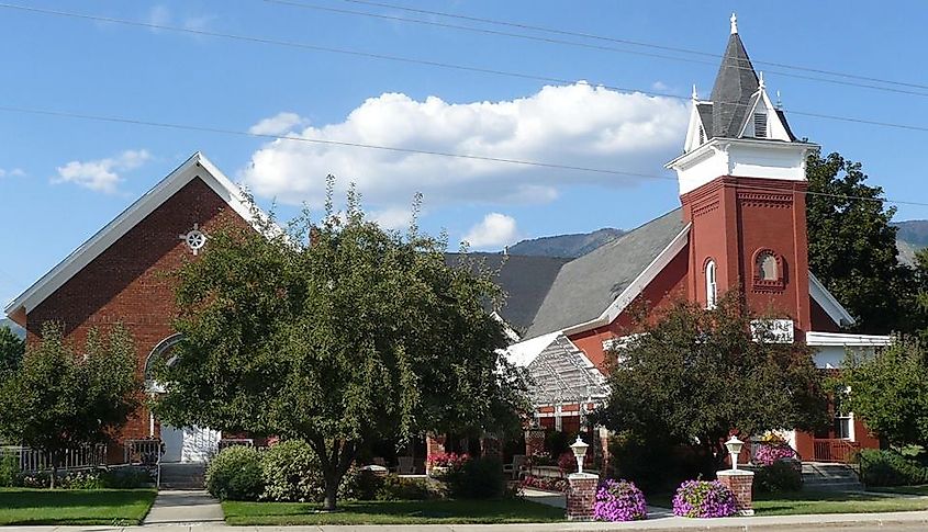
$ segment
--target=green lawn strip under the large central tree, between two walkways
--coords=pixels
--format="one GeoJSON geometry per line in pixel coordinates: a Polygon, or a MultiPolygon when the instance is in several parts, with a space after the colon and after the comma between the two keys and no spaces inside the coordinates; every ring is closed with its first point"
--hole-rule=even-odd
{"type": "Polygon", "coordinates": [[[562,509],[522,499],[339,502],[343,511],[316,513],[302,502],[222,503],[228,524],[436,524],[563,521],[562,509]]]}

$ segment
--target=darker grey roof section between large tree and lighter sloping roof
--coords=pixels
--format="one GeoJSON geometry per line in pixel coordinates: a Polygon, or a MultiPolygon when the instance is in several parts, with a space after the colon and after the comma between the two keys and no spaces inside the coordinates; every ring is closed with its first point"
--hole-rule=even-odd
{"type": "MultiPolygon", "coordinates": [[[[506,292],[507,297],[500,316],[522,336],[532,324],[535,313],[545,301],[545,295],[555,282],[561,267],[570,259],[555,257],[528,257],[510,254],[503,263],[502,253],[468,253],[471,259],[482,260],[487,268],[500,270],[496,284],[506,292]]],[[[459,263],[459,253],[445,253],[445,261],[459,263]]]]}

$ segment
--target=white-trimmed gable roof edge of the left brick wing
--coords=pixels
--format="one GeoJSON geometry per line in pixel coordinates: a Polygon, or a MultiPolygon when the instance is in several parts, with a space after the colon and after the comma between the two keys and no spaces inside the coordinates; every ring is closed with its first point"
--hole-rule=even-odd
{"type": "Polygon", "coordinates": [[[260,211],[253,208],[242,190],[203,154],[197,151],[7,305],[4,309],[7,315],[20,325],[24,325],[25,315],[29,312],[195,178],[206,183],[242,218],[253,226],[258,225],[258,217],[262,217],[260,211]]]}

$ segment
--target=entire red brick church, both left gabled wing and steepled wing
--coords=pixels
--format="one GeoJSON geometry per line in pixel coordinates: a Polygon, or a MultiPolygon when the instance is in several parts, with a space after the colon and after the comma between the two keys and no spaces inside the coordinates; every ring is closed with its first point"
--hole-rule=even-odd
{"type": "MultiPolygon", "coordinates": [[[[510,301],[499,317],[516,341],[506,351],[535,377],[540,425],[575,431],[584,411],[607,395],[605,353],[631,324],[634,302],[655,308],[675,297],[705,307],[729,290],[750,307],[773,309],[783,341],[817,349],[819,367],[837,367],[845,351],[873,350],[887,337],[841,332],[853,318],[808,270],[806,156],[817,147],[795,137],[754,71],[734,18],[728,46],[707,100],[694,90],[677,172],[680,208],[573,260],[510,257],[500,282],[510,301]]],[[[146,389],[149,374],[178,337],[169,272],[209,252],[209,235],[227,224],[254,226],[246,199],[203,155],[194,154],[126,211],[5,307],[37,340],[45,321],[83,342],[91,327],[122,322],[136,341],[146,389]]],[[[496,254],[495,257],[502,258],[496,254]]],[[[167,462],[203,461],[223,437],[206,428],[163,426],[141,409],[118,441],[160,438],[167,462]]],[[[839,412],[830,434],[793,431],[805,460],[828,460],[828,445],[879,444],[860,419],[839,412]],[[820,455],[821,454],[821,455],[820,455]]],[[[110,461],[122,460],[112,449],[110,461]]]]}

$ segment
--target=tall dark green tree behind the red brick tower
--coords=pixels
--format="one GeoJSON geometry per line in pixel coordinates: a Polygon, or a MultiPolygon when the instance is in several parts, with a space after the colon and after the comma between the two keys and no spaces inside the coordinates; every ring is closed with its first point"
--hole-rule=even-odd
{"type": "Polygon", "coordinates": [[[854,330],[924,327],[914,272],[899,262],[890,225],[896,210],[886,206],[883,189],[868,185],[861,163],[839,154],[809,156],[806,177],[809,269],[854,317],[854,330]]]}

